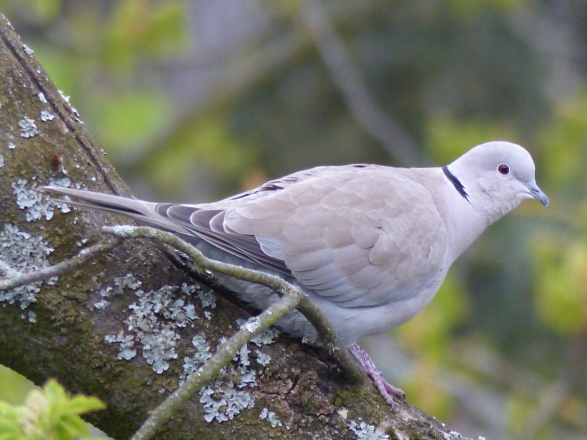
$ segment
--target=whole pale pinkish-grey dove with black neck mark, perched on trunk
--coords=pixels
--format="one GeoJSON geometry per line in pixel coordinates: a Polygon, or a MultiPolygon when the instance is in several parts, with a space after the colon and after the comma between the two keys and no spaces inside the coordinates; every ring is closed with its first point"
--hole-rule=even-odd
{"type": "MultiPolygon", "coordinates": [[[[505,141],[477,145],[444,167],[315,167],[203,204],[43,189],[177,233],[210,258],[301,287],[392,406],[393,396],[405,394],[384,380],[358,341],[416,316],[454,260],[522,201],[549,206],[531,155],[505,141]]],[[[259,309],[277,299],[267,287],[217,277],[259,309]]],[[[293,336],[315,334],[297,311],[277,325],[293,336]]]]}

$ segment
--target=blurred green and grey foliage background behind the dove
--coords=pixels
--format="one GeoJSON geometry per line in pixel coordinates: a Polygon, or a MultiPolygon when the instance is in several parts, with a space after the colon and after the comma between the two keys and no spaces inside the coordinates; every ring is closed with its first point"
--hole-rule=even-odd
{"type": "Polygon", "coordinates": [[[406,161],[353,113],[304,4],[0,0],[0,11],[143,197],[211,200],[315,165],[446,164],[488,140],[525,145],[551,209],[525,202],[457,260],[394,332],[414,359],[396,385],[488,438],[585,437],[587,6],[319,3],[355,80],[409,140],[406,161]],[[463,381],[488,401],[446,385],[463,381]]]}

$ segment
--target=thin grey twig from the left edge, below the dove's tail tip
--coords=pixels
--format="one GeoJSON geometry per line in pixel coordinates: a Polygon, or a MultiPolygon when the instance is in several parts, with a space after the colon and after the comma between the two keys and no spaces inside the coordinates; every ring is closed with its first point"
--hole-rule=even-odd
{"type": "Polygon", "coordinates": [[[108,251],[120,243],[116,236],[100,241],[89,248],[82,249],[77,255],[63,260],[56,265],[48,266],[43,269],[32,270],[31,272],[19,273],[4,280],[0,280],[0,290],[14,289],[15,287],[25,286],[39,281],[46,281],[53,276],[63,275],[64,273],[73,272],[83,263],[93,256],[108,251]]]}

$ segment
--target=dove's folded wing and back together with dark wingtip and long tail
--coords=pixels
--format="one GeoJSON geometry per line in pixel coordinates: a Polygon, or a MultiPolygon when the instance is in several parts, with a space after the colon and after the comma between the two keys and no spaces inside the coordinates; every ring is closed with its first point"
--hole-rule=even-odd
{"type": "MultiPolygon", "coordinates": [[[[430,168],[435,172],[436,168],[430,168]]],[[[153,204],[50,188],[88,205],[195,235],[298,282],[343,307],[421,290],[446,255],[444,222],[409,170],[318,167],[211,204],[153,204]]]]}

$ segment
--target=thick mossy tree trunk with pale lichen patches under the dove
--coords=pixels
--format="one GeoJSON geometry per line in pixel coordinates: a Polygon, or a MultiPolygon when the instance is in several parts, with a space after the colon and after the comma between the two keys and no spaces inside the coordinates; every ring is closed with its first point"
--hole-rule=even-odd
{"type": "MultiPolygon", "coordinates": [[[[69,179],[95,191],[126,196],[130,192],[4,16],[0,37],[0,269],[8,276],[13,269],[31,270],[73,256],[103,238],[100,226],[120,222],[95,212],[63,213],[47,205],[45,198],[35,199],[37,185],[69,179]],[[20,262],[13,255],[19,250],[20,262]]],[[[149,411],[177,388],[184,357],[202,347],[193,338],[204,338],[215,347],[234,333],[236,319],[249,316],[219,287],[214,287],[217,300],[212,309],[202,299],[208,298],[210,283],[210,276],[186,271],[163,246],[127,240],[82,269],[43,283],[38,292],[0,292],[0,363],[36,384],[55,377],[73,393],[96,395],[107,409],[87,419],[113,438],[129,438],[149,411]],[[195,286],[191,295],[164,287],[184,283],[195,286]],[[173,304],[156,303],[157,295],[168,295],[173,304]],[[131,321],[146,297],[151,308],[168,304],[185,312],[193,304],[198,318],[186,318],[187,325],[181,326],[177,316],[165,316],[166,310],[151,310],[151,321],[131,321]],[[174,303],[177,300],[183,303],[174,303]],[[121,349],[124,337],[134,344],[126,344],[126,351],[121,349]],[[153,349],[157,338],[167,338],[167,358],[153,349]],[[131,357],[133,350],[137,353],[131,357]],[[152,365],[147,363],[149,356],[152,365]]],[[[254,398],[252,408],[243,408],[226,421],[216,417],[208,422],[205,416],[215,413],[194,395],[157,438],[350,439],[361,429],[368,431],[367,425],[392,439],[447,438],[450,432],[407,402],[398,402],[392,411],[375,388],[343,377],[336,365],[284,334],[272,344],[249,344],[249,350],[248,361],[243,355],[225,368],[224,383],[208,402],[220,400],[231,384],[244,383],[244,375],[254,372],[256,386],[249,381],[234,387],[248,394],[249,404],[254,398]],[[261,353],[270,360],[261,360],[261,353]]],[[[226,414],[225,409],[216,414],[226,414]]]]}

